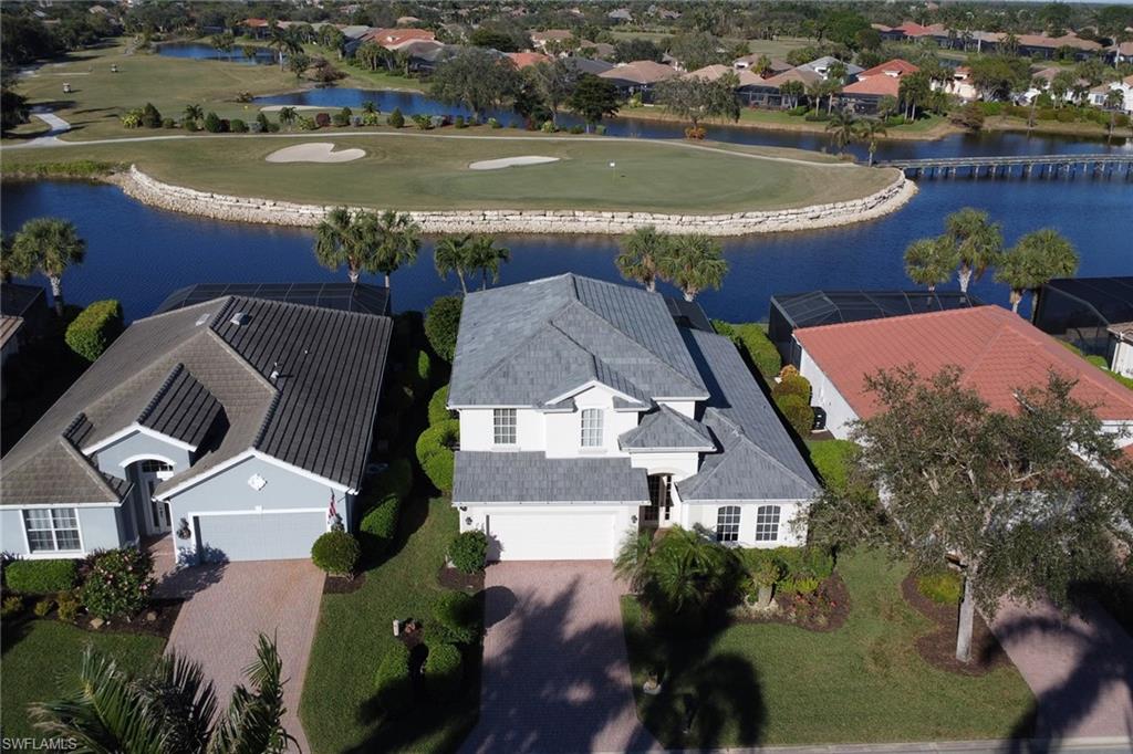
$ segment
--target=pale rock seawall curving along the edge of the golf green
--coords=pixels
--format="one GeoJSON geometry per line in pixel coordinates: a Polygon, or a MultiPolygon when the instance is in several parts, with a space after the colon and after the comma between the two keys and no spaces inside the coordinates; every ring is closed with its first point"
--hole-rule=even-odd
{"type": "MultiPolygon", "coordinates": [[[[215,220],[273,225],[317,225],[331,206],[295,204],[254,197],[227,196],[164,183],[136,165],[110,181],[130,197],[162,209],[215,220]]],[[[887,215],[904,206],[917,186],[900,174],[876,194],[836,204],[793,209],[733,212],[717,215],[665,214],[657,212],[602,212],[585,209],[466,209],[411,211],[408,214],[425,233],[571,233],[611,234],[631,232],[639,225],[655,225],[668,233],[747,235],[846,225],[887,215]]]]}

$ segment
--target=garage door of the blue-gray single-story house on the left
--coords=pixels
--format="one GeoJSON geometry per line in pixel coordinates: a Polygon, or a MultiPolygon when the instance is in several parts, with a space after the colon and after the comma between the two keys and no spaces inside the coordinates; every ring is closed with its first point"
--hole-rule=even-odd
{"type": "Polygon", "coordinates": [[[326,531],[326,513],[213,513],[196,516],[195,525],[205,560],[289,560],[310,557],[310,546],[326,531]]]}

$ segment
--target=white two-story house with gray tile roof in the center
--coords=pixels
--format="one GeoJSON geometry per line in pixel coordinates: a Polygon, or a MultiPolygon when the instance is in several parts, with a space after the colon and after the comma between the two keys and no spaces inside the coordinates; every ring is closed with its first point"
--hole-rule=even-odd
{"type": "Polygon", "coordinates": [[[578,275],[465,299],[453,506],[493,559],[610,559],[632,530],[798,545],[817,482],[695,303],[578,275]],[[693,311],[696,310],[696,311],[693,311]]]}

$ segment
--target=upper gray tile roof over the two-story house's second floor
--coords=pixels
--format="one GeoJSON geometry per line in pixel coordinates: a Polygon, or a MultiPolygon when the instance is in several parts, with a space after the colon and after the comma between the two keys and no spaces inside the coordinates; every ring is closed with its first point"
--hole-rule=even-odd
{"type": "Polygon", "coordinates": [[[658,293],[568,274],[465,298],[450,405],[542,405],[590,379],[707,397],[658,293]]]}

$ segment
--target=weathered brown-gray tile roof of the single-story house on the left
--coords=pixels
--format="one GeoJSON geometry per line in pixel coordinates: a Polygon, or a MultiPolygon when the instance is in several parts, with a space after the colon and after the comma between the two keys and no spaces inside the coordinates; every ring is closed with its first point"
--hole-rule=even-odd
{"type": "Polygon", "coordinates": [[[210,414],[223,434],[159,495],[250,448],[357,489],[391,329],[387,317],[231,295],[139,319],[5,456],[2,503],[104,500],[60,442],[87,451],[136,421],[203,439],[210,414]],[[51,469],[70,483],[43,486],[51,469]]]}

